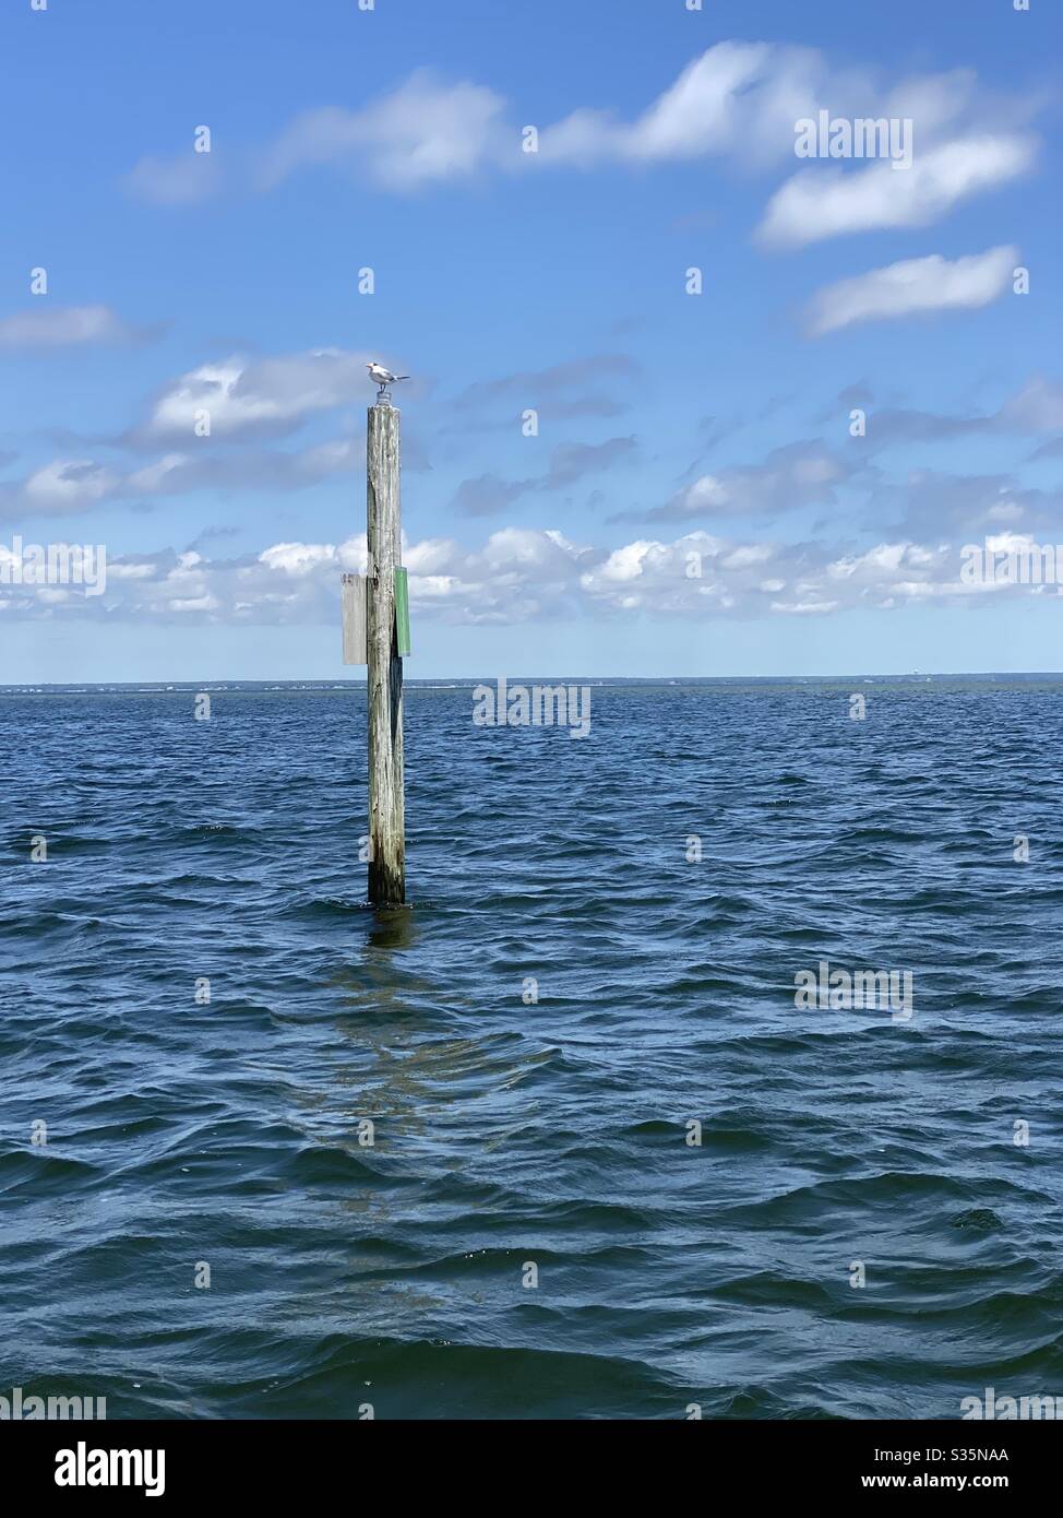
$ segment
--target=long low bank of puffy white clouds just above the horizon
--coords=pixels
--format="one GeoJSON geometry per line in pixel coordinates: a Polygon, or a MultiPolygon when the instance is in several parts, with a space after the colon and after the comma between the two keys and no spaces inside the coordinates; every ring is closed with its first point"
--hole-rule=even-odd
{"type": "MultiPolygon", "coordinates": [[[[1001,534],[993,542],[1007,546],[1025,539],[1001,534]]],[[[826,543],[743,542],[695,531],[600,548],[572,543],[555,530],[505,528],[478,548],[438,537],[405,542],[403,560],[414,621],[422,624],[828,616],[851,607],[970,600],[980,591],[960,580],[958,543],[910,539],[839,551],[826,543]]],[[[173,551],[109,556],[103,597],[56,603],[23,592],[0,595],[0,607],[8,621],[334,624],[338,636],[341,571],[364,566],[364,536],[346,543],[273,543],[230,560],[173,551]]],[[[995,595],[1028,591],[993,587],[995,595]]]]}

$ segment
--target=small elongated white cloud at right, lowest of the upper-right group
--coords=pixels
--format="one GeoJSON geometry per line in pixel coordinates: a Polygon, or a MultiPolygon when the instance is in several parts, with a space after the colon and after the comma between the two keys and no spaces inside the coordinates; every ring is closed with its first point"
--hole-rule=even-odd
{"type": "Polygon", "coordinates": [[[1004,294],[1018,263],[1018,247],[990,247],[955,261],[931,254],[872,269],[820,290],[808,307],[807,326],[822,337],[857,322],[989,305],[1004,294]]]}

